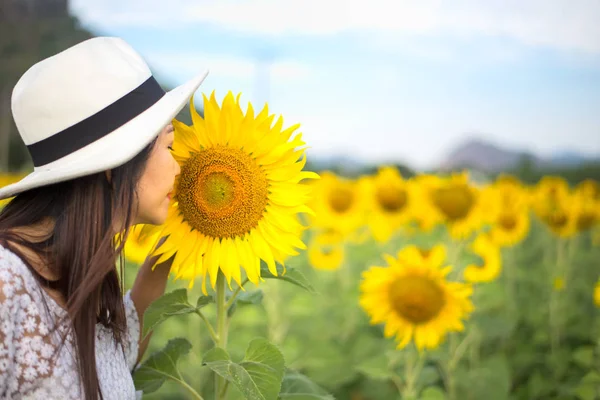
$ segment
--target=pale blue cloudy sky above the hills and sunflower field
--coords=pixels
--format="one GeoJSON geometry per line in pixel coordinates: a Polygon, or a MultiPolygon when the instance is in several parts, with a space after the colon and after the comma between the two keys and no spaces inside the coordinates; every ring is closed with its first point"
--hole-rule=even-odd
{"type": "MultiPolygon", "coordinates": [[[[268,102],[315,157],[427,169],[467,139],[600,156],[598,0],[71,0],[170,86],[268,102]]],[[[245,107],[244,107],[245,108],[245,107]]]]}

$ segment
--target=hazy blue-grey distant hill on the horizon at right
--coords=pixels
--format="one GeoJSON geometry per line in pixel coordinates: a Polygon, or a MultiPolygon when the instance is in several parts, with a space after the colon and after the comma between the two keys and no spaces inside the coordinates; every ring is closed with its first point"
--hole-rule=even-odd
{"type": "Polygon", "coordinates": [[[562,151],[548,158],[537,156],[529,151],[509,149],[482,139],[469,139],[456,146],[438,164],[442,171],[473,168],[486,172],[506,171],[527,162],[535,168],[577,167],[588,162],[598,162],[598,158],[585,157],[574,151],[562,151]]]}

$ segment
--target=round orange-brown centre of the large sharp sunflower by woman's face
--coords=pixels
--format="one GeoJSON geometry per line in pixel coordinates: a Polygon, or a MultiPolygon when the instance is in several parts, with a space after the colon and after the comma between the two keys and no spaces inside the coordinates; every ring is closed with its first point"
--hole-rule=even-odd
{"type": "Polygon", "coordinates": [[[267,176],[240,149],[212,147],[181,168],[177,200],[184,219],[214,238],[232,238],[258,225],[268,202],[267,176]]]}

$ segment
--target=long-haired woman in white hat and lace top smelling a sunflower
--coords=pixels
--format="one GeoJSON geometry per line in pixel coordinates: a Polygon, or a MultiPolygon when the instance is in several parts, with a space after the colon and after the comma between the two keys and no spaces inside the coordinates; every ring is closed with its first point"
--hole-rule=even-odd
{"type": "Polygon", "coordinates": [[[170,263],[148,259],[123,297],[115,237],[165,221],[179,173],[170,122],[205,77],[165,93],[129,45],[94,38],[15,85],[35,169],[0,188],[15,196],[0,212],[1,399],[136,398],[140,321],[170,263]]]}

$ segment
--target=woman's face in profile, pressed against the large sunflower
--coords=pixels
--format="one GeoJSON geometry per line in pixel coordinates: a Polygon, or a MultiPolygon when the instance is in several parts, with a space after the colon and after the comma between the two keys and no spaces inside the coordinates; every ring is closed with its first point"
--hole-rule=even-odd
{"type": "Polygon", "coordinates": [[[167,125],[158,139],[138,182],[138,207],[135,224],[161,225],[167,219],[175,177],[180,168],[171,155],[173,125],[167,125]]]}

